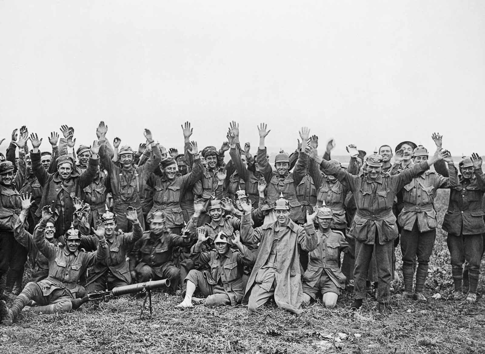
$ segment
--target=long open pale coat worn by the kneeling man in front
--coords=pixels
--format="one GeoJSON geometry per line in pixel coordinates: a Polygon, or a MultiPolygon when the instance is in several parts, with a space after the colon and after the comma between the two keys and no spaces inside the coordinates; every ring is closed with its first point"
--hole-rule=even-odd
{"type": "MultiPolygon", "coordinates": [[[[253,229],[251,215],[242,215],[241,219],[241,240],[244,244],[255,244],[260,242],[256,262],[249,276],[246,291],[242,300],[247,304],[251,288],[255,284],[256,275],[268,260],[275,237],[275,223],[268,223],[259,228],[253,229]]],[[[275,302],[280,308],[293,313],[300,313],[303,298],[303,287],[301,283],[300,251],[313,251],[317,246],[316,233],[306,233],[305,230],[290,220],[287,228],[291,231],[276,244],[277,259],[275,263],[275,302]]]]}

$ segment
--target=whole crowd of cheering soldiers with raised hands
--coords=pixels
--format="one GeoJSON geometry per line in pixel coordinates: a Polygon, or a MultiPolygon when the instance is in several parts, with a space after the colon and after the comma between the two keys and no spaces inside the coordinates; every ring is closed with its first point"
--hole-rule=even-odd
{"type": "Polygon", "coordinates": [[[432,153],[412,141],[368,156],[348,145],[344,168],[331,159],[333,141],[319,155],[307,127],[295,152],[281,151],[273,167],[264,123],[255,155],[241,146],[235,122],[221,148],[201,153],[189,122],[180,154],[148,129],[137,151],[108,141],[104,122],[90,146],[75,147],[72,127],[61,132],[61,139],[50,134],[51,151],[41,151],[43,139],[22,126],[0,156],[0,295],[12,302],[0,301],[4,325],[22,310],[68,311],[88,293],[150,279],[170,279],[167,291],[181,295],[181,308],[199,301],[254,311],[274,299],[293,313],[319,295],[334,307],[349,283],[357,309],[374,286],[378,310],[388,314],[399,238],[402,296],[426,301],[438,188],[451,190],[442,228],[453,297],[476,301],[482,158],[465,156],[456,169],[437,133],[432,153]],[[22,287],[27,260],[32,281],[22,287]]]}

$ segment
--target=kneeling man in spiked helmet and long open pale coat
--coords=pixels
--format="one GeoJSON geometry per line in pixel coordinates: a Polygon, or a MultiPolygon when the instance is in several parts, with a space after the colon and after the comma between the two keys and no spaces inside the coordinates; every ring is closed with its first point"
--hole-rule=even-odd
{"type": "MultiPolygon", "coordinates": [[[[246,245],[260,242],[256,263],[242,300],[250,311],[263,306],[270,297],[276,305],[293,313],[301,313],[303,289],[300,271],[300,248],[312,251],[317,246],[316,233],[307,233],[290,219],[290,202],[281,196],[275,201],[274,223],[253,229],[251,205],[242,204],[241,240],[246,245]]],[[[313,220],[315,213],[307,219],[313,220]]]]}

